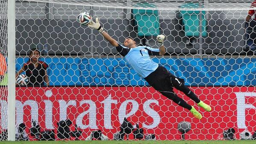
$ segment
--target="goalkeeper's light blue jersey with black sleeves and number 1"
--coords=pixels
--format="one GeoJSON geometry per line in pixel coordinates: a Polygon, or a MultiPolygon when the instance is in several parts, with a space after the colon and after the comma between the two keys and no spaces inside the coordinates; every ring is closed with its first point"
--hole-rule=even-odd
{"type": "Polygon", "coordinates": [[[150,55],[159,56],[159,49],[145,46],[128,48],[121,44],[119,44],[116,49],[122,56],[124,56],[124,59],[129,63],[133,70],[142,78],[147,77],[158,68],[158,64],[153,62],[150,55]]]}

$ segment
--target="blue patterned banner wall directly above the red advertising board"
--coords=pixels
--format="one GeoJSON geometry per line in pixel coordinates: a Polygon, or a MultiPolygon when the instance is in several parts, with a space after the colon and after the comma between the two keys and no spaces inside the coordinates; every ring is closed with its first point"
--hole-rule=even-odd
{"type": "MultiPolygon", "coordinates": [[[[18,58],[16,71],[28,58],[18,58]]],[[[49,68],[50,85],[148,85],[122,58],[42,58],[49,68]]],[[[191,86],[256,85],[256,58],[153,58],[191,86]]]]}

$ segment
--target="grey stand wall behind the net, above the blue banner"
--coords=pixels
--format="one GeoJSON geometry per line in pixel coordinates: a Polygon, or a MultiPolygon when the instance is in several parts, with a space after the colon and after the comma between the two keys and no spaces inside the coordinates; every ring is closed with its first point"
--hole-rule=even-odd
{"type": "MultiPolygon", "coordinates": [[[[227,7],[234,5],[233,3],[225,4],[227,7]]],[[[250,2],[244,3],[243,6],[250,7],[250,2]]],[[[78,9],[86,9],[92,12],[92,16],[99,17],[109,35],[118,38],[118,41],[123,42],[124,38],[131,36],[139,42],[136,38],[136,29],[133,29],[130,21],[129,9],[16,2],[16,38],[18,38],[16,54],[25,55],[30,44],[49,44],[48,54],[53,56],[117,53],[115,48],[103,41],[103,37],[98,35],[97,31],[85,29],[85,26],[74,22],[79,14],[78,9]],[[94,41],[95,39],[97,41],[94,41]]],[[[203,51],[216,55],[241,53],[244,47],[243,27],[246,15],[247,10],[208,11],[206,19],[209,21],[207,21],[206,30],[209,34],[202,40],[203,51]]],[[[197,48],[185,47],[185,34],[181,30],[180,20],[179,11],[159,11],[160,33],[164,29],[164,34],[168,35],[168,41],[170,41],[165,44],[167,51],[170,54],[175,52],[176,55],[197,53],[197,48]]],[[[150,41],[150,46],[157,47],[155,44],[154,38],[150,41]]]]}

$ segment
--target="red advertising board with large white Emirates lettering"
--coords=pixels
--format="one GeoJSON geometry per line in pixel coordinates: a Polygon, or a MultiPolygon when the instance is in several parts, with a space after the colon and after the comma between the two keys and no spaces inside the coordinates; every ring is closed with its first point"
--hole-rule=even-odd
{"type": "MultiPolygon", "coordinates": [[[[33,119],[43,129],[56,129],[59,120],[70,119],[82,129],[82,139],[97,129],[112,139],[124,118],[133,125],[139,123],[144,133],[154,133],[158,140],[179,140],[177,125],[182,121],[191,123],[191,130],[185,135],[191,140],[218,140],[223,137],[224,129],[231,127],[235,129],[236,138],[244,129],[252,134],[256,131],[255,87],[191,89],[212,106],[211,112],[204,111],[184,94],[176,92],[202,113],[201,120],[153,88],[43,87],[16,89],[16,121],[30,127],[33,119]]],[[[2,110],[5,100],[1,96],[1,119],[6,118],[2,110]]],[[[4,122],[7,121],[3,120],[1,126],[6,129],[4,122]]],[[[74,126],[71,129],[74,130],[74,126]]]]}

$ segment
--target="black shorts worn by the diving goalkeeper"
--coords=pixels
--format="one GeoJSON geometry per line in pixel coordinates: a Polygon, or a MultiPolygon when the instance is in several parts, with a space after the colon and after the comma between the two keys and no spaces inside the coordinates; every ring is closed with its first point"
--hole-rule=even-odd
{"type": "MultiPolygon", "coordinates": [[[[173,88],[182,87],[184,85],[184,79],[179,79],[173,74],[171,74],[165,67],[158,66],[156,71],[150,73],[144,78],[153,88],[160,91],[162,94],[164,92],[173,92],[173,88]]],[[[165,95],[165,94],[164,94],[165,95]]]]}

